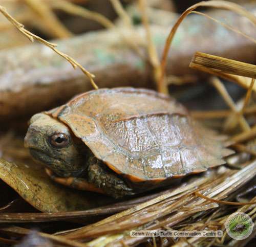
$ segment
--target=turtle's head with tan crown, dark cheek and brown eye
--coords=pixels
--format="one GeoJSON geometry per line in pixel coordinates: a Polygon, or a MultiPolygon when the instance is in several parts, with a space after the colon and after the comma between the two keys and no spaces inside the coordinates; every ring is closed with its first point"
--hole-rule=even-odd
{"type": "Polygon", "coordinates": [[[34,159],[62,177],[78,176],[85,168],[86,146],[63,123],[45,113],[34,115],[25,137],[34,159]]]}

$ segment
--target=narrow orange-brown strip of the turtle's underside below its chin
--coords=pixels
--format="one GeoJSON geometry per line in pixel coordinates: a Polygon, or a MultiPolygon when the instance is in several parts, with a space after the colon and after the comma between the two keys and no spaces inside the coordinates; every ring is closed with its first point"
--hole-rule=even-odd
{"type": "Polygon", "coordinates": [[[78,190],[87,190],[104,194],[103,190],[97,188],[95,185],[88,183],[88,181],[81,177],[58,177],[50,169],[46,168],[46,173],[50,178],[61,185],[65,185],[78,190]]]}

